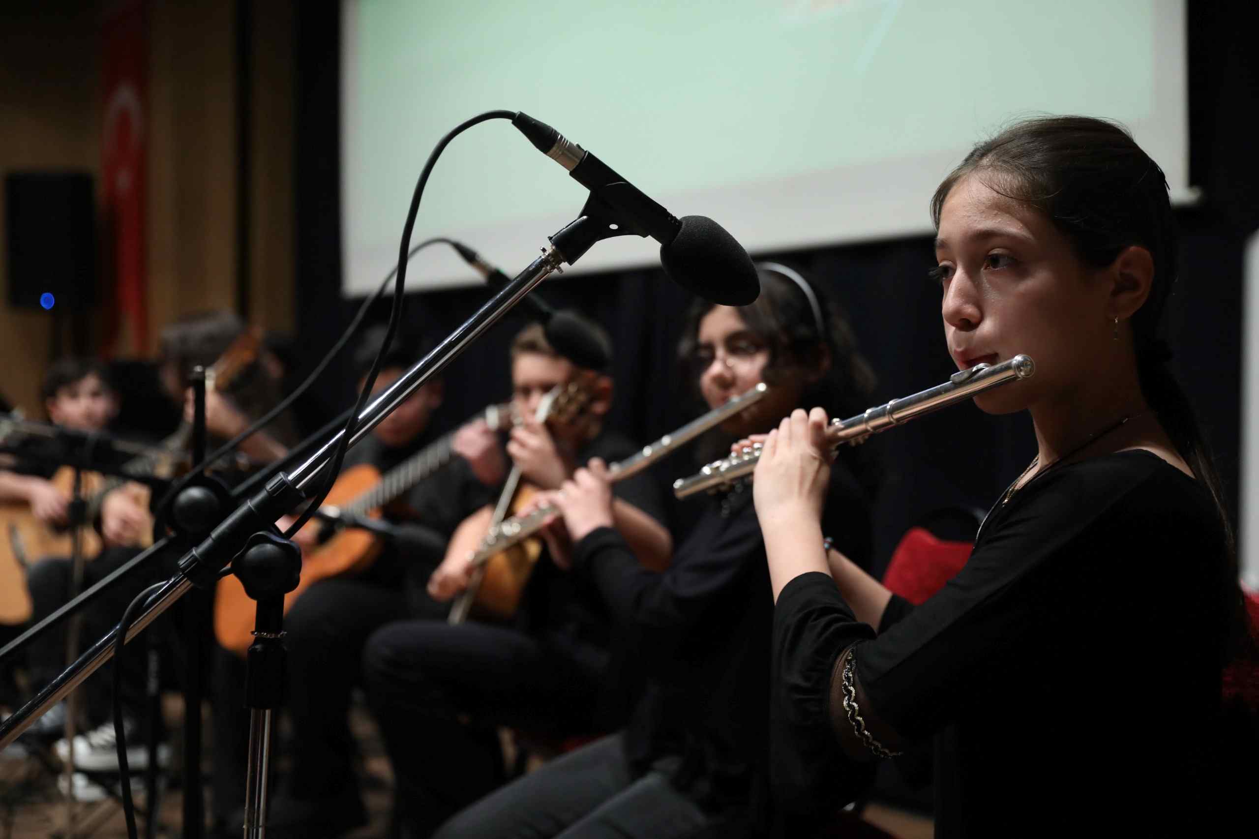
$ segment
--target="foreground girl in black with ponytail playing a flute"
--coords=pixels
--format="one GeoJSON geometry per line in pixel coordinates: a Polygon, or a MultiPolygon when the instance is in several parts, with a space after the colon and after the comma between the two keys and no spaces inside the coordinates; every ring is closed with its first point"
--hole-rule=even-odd
{"type": "Polygon", "coordinates": [[[818,518],[827,412],[768,437],[754,496],[778,804],[840,806],[876,758],[934,737],[938,836],[1224,835],[1254,791],[1253,752],[1231,784],[1219,771],[1244,611],[1220,482],[1160,339],[1163,173],[1110,122],[1027,120],[976,146],[932,214],[947,349],[963,369],[1035,360],[976,403],[1027,411],[1040,451],[914,607],[822,548],[844,538],[818,518]]]}

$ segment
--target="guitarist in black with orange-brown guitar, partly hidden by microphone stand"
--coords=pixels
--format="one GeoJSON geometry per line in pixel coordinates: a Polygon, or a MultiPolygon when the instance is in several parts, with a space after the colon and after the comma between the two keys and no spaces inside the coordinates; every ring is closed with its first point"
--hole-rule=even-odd
{"type": "MultiPolygon", "coordinates": [[[[360,385],[383,338],[384,328],[379,328],[363,341],[355,358],[360,385]]],[[[419,348],[399,344],[395,339],[373,392],[393,384],[421,355],[419,348]]],[[[387,475],[414,462],[419,452],[433,451],[434,443],[441,447],[429,420],[442,403],[442,392],[441,380],[431,380],[415,391],[373,428],[370,437],[346,452],[342,474],[369,465],[387,475]]],[[[292,765],[268,818],[277,835],[336,835],[366,820],[353,767],[355,748],[347,722],[350,693],[363,669],[363,644],[374,630],[392,621],[444,619],[446,607],[424,592],[428,576],[441,561],[454,528],[490,500],[488,485],[502,480],[502,454],[492,436],[457,433],[452,447],[456,457],[409,489],[399,490],[398,498],[387,504],[384,520],[397,528],[402,542],[387,540],[361,573],[315,582],[285,615],[288,649],[285,708],[292,723],[292,765]]],[[[414,480],[414,476],[394,475],[399,484],[414,480]]],[[[287,527],[285,520],[279,524],[287,527]]],[[[296,540],[307,557],[320,547],[317,534],[321,529],[315,522],[298,533],[296,540]]],[[[240,669],[239,658],[224,655],[238,665],[234,669],[240,669]]],[[[225,683],[232,685],[230,695],[224,695],[227,708],[217,713],[224,724],[232,726],[232,738],[239,736],[240,739],[230,743],[230,751],[220,750],[217,756],[215,773],[223,779],[219,789],[224,799],[217,810],[229,831],[239,831],[247,712],[242,708],[240,675],[225,683]]],[[[227,739],[224,737],[224,742],[227,739]]]]}

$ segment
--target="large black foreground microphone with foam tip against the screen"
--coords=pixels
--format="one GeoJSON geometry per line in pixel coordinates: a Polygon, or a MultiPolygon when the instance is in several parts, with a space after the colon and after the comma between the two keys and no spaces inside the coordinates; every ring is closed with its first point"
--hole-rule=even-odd
{"type": "Polygon", "coordinates": [[[677,285],[716,304],[747,306],[760,295],[748,252],[725,228],[704,215],[675,218],[607,164],[545,122],[520,111],[511,125],[539,151],[633,225],[660,242],[660,262],[677,285]]]}

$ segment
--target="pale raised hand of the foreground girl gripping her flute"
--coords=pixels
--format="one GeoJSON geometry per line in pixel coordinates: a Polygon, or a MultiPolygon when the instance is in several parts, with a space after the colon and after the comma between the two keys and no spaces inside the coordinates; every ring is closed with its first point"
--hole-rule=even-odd
{"type": "Polygon", "coordinates": [[[826,423],[823,408],[797,408],[765,437],[752,482],[762,529],[821,520],[835,462],[826,423]]]}

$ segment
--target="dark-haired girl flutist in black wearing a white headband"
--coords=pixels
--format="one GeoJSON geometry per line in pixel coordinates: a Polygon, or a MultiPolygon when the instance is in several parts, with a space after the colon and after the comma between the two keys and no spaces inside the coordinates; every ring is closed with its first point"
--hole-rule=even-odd
{"type": "MultiPolygon", "coordinates": [[[[724,430],[764,430],[820,398],[837,412],[866,406],[874,377],[838,311],[789,268],[759,273],[755,304],[699,304],[682,341],[709,407],[769,384],[724,430]]],[[[833,472],[827,520],[864,558],[867,499],[849,467],[833,472]]],[[[609,527],[609,498],[606,466],[592,461],[543,500],[563,511],[551,551],[575,585],[596,592],[646,676],[628,728],[491,794],[436,835],[669,839],[762,826],[772,601],[752,493],[738,485],[696,501],[699,520],[662,573],[642,568],[609,527]]]]}

